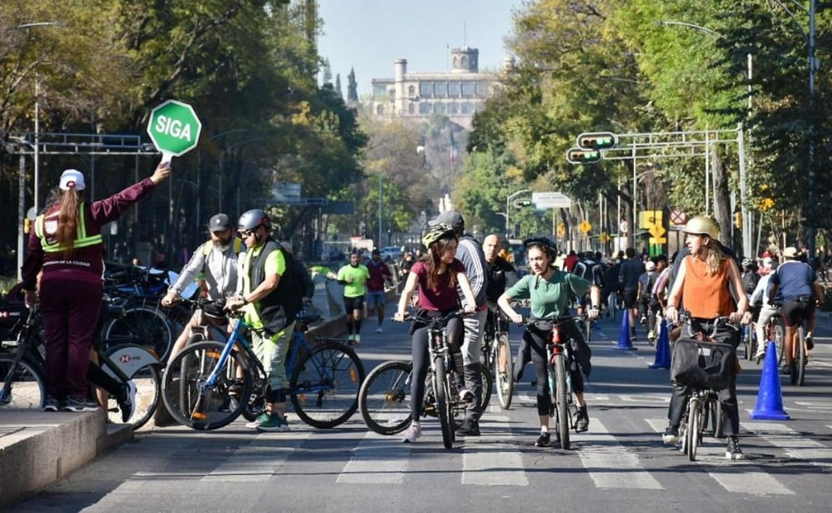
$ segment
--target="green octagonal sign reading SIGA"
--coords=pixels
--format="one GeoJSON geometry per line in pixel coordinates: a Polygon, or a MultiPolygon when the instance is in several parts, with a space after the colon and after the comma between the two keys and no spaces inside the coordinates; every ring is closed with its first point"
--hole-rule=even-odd
{"type": "Polygon", "coordinates": [[[196,148],[202,123],[193,107],[176,100],[168,100],[151,112],[147,134],[166,156],[181,156],[196,148]]]}

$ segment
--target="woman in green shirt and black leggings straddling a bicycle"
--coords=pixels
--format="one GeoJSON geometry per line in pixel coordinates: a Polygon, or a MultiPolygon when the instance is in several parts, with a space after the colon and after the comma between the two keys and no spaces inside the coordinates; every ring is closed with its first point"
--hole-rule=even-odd
{"type": "MultiPolygon", "coordinates": [[[[554,244],[549,239],[527,239],[526,246],[529,266],[532,274],[523,276],[511,289],[508,289],[498,299],[509,318],[515,323],[522,323],[522,315],[512,308],[512,299],[527,299],[532,302],[532,317],[537,319],[556,320],[569,311],[569,298],[582,297],[587,290],[591,293],[592,308],[587,312],[591,320],[598,318],[601,303],[601,289],[582,279],[577,274],[566,273],[552,267],[552,261],[557,253],[554,244]]],[[[546,322],[536,322],[528,325],[523,338],[532,348],[532,364],[537,374],[537,415],[540,419],[540,436],[535,446],[548,446],[550,442],[549,414],[552,411],[552,392],[549,390],[547,379],[546,345],[552,326],[546,322]]],[[[572,391],[575,392],[577,402],[577,429],[586,431],[589,427],[587,403],[583,397],[583,377],[581,370],[589,376],[592,370],[590,358],[592,353],[583,340],[581,332],[575,323],[561,324],[567,340],[572,340],[572,362],[567,363],[567,371],[572,380],[572,391]],[[581,367],[579,370],[578,367],[581,367]]]]}

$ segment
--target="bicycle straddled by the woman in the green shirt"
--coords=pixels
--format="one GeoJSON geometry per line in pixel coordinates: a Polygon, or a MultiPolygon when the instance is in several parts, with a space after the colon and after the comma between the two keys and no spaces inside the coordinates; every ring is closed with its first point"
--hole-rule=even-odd
{"type": "Polygon", "coordinates": [[[523,324],[546,323],[549,327],[549,340],[546,344],[547,382],[552,396],[552,409],[549,416],[554,417],[555,437],[561,448],[568,451],[570,447],[569,430],[577,429],[577,404],[572,398],[572,378],[567,372],[567,363],[572,361],[571,345],[564,343],[561,325],[574,323],[581,318],[566,316],[557,319],[523,318],[523,324]]]}

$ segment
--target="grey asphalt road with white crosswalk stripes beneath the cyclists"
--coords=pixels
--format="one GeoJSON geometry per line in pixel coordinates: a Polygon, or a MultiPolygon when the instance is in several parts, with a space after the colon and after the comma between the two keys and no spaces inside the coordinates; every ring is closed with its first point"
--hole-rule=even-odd
{"type": "MultiPolygon", "coordinates": [[[[368,432],[359,414],[332,430],[290,415],[288,433],[251,432],[241,420],[217,432],[166,427],[139,433],[14,510],[830,511],[830,323],[817,330],[807,386],[783,387],[791,420],[749,420],[760,367],[744,362],[747,459],[726,461],[724,441],[706,438],[696,462],[662,445],[669,373],[647,368],[655,353],[643,331],[637,351],[615,350],[619,326],[604,321],[591,343],[592,421],[589,432],[572,434],[570,451],[532,445],[534,391],[523,382],[512,409],[490,407],[483,436],[452,450],[443,448],[434,419],[415,444],[368,432]]],[[[374,328],[364,323],[359,346],[368,371],[409,358],[406,325],[374,328]]]]}

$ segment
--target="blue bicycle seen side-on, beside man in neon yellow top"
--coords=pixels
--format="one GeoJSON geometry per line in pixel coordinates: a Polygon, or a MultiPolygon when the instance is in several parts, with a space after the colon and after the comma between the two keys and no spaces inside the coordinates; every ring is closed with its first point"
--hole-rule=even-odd
{"type": "MultiPolygon", "coordinates": [[[[218,429],[240,415],[254,420],[265,408],[269,378],[244,333],[252,328],[240,313],[229,316],[237,320],[225,342],[191,343],[165,369],[165,406],[191,429],[218,429]]],[[[332,340],[313,346],[302,333],[290,344],[285,368],[295,414],[322,429],[345,422],[358,408],[358,387],[364,380],[364,366],[354,349],[332,340]]]]}

